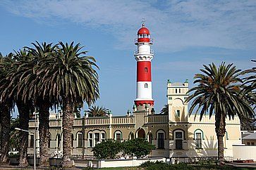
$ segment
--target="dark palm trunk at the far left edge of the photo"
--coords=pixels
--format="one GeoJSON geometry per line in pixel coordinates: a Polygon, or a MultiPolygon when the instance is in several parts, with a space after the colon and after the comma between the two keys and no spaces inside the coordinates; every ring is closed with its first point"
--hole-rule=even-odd
{"type": "Polygon", "coordinates": [[[10,115],[10,107],[6,103],[1,103],[1,120],[0,121],[1,121],[0,164],[8,164],[11,115],[10,115]]]}

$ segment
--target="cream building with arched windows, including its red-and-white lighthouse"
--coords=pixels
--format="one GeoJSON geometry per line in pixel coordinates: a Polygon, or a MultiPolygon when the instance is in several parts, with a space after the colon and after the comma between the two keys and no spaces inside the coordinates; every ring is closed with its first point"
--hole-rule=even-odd
{"type": "MultiPolygon", "coordinates": [[[[149,157],[217,157],[217,136],[214,116],[202,117],[188,115],[188,80],[183,83],[167,81],[167,103],[169,113],[155,114],[152,99],[151,60],[154,53],[151,49],[150,31],[143,24],[135,39],[134,56],[137,61],[137,93],[133,112],[123,116],[83,117],[73,121],[71,148],[73,157],[91,157],[92,148],[102,140],[114,139],[122,142],[132,138],[146,138],[156,145],[149,157]]],[[[62,129],[61,114],[51,113],[49,123],[49,154],[61,156],[62,129]]],[[[38,120],[30,121],[30,131],[38,127],[38,120]]],[[[33,139],[39,146],[38,132],[29,138],[29,153],[33,152],[33,139]]],[[[224,155],[233,157],[232,145],[241,143],[240,121],[238,117],[226,120],[224,136],[224,155]]],[[[37,153],[39,153],[37,147],[37,153]]]]}

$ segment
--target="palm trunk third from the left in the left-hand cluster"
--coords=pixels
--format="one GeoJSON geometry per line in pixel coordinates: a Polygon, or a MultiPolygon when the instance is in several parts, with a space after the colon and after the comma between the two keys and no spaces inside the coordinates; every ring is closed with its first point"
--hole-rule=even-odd
{"type": "Polygon", "coordinates": [[[49,167],[49,104],[42,101],[39,107],[39,166],[49,167]]]}

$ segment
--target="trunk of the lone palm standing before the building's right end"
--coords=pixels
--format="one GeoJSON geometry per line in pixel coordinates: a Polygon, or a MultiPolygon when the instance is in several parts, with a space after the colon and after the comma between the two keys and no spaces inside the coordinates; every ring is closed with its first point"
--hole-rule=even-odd
{"type": "Polygon", "coordinates": [[[226,123],[225,123],[225,117],[223,114],[217,114],[215,116],[216,122],[215,122],[215,131],[217,134],[217,140],[218,140],[218,164],[221,165],[224,163],[224,142],[223,137],[225,135],[226,129],[226,123]]]}

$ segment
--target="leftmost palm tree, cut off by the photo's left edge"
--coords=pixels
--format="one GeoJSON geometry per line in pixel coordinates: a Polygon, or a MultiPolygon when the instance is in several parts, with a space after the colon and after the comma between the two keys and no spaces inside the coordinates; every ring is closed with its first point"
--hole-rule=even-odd
{"type": "Polygon", "coordinates": [[[0,164],[8,163],[8,150],[10,141],[10,126],[11,126],[11,110],[13,109],[13,96],[7,98],[3,97],[2,93],[8,86],[6,75],[11,69],[13,63],[13,53],[9,53],[4,57],[0,53],[0,124],[1,124],[1,150],[0,150],[0,164]]]}

